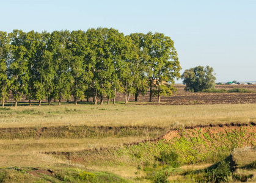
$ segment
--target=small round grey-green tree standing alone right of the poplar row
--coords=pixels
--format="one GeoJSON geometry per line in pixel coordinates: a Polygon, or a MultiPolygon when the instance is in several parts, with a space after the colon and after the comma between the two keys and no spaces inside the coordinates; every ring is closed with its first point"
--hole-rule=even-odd
{"type": "Polygon", "coordinates": [[[185,90],[199,92],[214,88],[216,77],[213,74],[212,67],[196,66],[185,70],[181,79],[184,79],[183,84],[186,84],[185,90]]]}

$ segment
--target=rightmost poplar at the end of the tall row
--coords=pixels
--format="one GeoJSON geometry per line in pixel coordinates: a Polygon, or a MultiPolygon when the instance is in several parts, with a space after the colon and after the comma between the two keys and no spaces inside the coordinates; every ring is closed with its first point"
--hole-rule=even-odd
{"type": "Polygon", "coordinates": [[[174,41],[164,34],[148,32],[145,40],[148,48],[148,79],[150,85],[150,102],[152,96],[171,96],[176,91],[174,79],[180,78],[180,62],[174,41]]]}

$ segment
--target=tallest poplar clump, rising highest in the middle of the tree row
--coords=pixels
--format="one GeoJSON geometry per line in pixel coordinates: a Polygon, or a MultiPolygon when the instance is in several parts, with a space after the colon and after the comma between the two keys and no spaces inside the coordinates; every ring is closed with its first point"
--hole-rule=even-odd
{"type": "MultiPolygon", "coordinates": [[[[90,51],[87,54],[87,64],[93,73],[92,90],[93,101],[97,104],[97,97],[100,96],[100,103],[103,104],[103,97],[112,98],[114,92],[112,82],[116,81],[115,65],[120,60],[122,51],[123,34],[115,29],[98,28],[89,29],[86,32],[90,51]]],[[[109,101],[108,101],[109,103],[109,101]]]]}

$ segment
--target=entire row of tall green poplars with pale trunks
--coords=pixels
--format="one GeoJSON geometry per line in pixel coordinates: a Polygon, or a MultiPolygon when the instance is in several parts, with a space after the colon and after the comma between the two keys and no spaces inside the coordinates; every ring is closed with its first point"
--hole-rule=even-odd
{"type": "Polygon", "coordinates": [[[73,96],[113,98],[119,91],[137,99],[150,88],[152,96],[172,95],[180,78],[174,41],[161,33],[124,35],[116,29],[97,28],[54,32],[0,31],[0,99],[12,96],[31,104],[73,96]]]}

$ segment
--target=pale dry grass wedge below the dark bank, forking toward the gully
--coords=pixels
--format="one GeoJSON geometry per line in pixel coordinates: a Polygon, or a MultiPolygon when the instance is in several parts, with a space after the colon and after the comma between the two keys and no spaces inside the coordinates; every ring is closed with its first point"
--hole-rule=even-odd
{"type": "Polygon", "coordinates": [[[99,149],[122,146],[126,142],[139,142],[143,138],[82,138],[82,139],[39,139],[39,140],[0,140],[0,167],[43,167],[64,162],[40,152],[73,152],[83,149],[99,149]]]}

